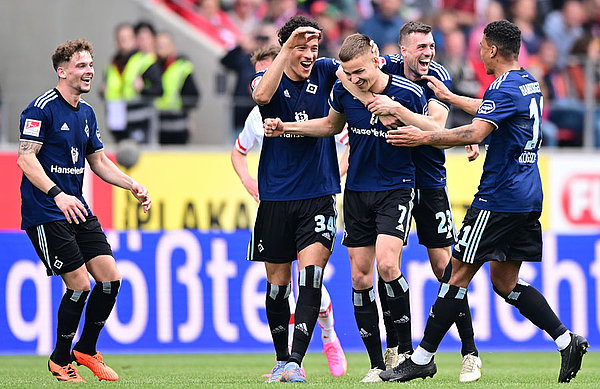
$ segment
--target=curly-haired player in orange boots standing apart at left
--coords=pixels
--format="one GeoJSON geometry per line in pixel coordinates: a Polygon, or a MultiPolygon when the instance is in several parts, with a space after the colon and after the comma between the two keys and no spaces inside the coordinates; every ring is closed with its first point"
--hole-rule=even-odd
{"type": "Polygon", "coordinates": [[[119,376],[103,362],[96,342],[115,304],[121,275],[98,218],[82,195],[85,160],[104,181],[130,190],[144,212],[151,201],[148,190],[104,154],[94,110],[81,99],[94,77],[92,45],[82,39],[67,41],[52,54],[52,64],[58,85],[21,114],[17,159],[23,170],[21,227],[47,274],[60,275],[66,287],[48,369],[59,381],[84,382],[71,363],[75,361],[100,380],[116,381],[119,376]],[[96,281],[91,292],[88,273],[96,281]],[[83,331],[71,352],[88,295],[83,331]]]}

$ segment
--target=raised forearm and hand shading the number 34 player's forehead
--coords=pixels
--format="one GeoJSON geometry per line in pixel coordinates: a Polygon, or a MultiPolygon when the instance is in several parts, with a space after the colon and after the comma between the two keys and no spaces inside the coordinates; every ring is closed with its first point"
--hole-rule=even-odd
{"type": "Polygon", "coordinates": [[[281,82],[283,71],[288,64],[293,49],[297,46],[307,45],[314,39],[319,39],[320,33],[319,30],[312,27],[299,27],[294,30],[281,47],[279,54],[277,54],[271,65],[267,68],[267,71],[263,74],[256,88],[254,88],[252,98],[256,103],[260,105],[269,104],[281,82]]]}

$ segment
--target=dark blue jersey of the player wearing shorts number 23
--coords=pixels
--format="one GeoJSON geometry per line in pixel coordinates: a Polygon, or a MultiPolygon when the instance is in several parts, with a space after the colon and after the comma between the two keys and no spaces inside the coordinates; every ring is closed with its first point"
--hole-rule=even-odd
{"type": "MultiPolygon", "coordinates": [[[[400,55],[383,55],[380,57],[380,68],[389,74],[404,76],[404,59],[400,55]]],[[[452,86],[450,73],[441,64],[432,61],[429,65],[430,76],[442,81],[448,89],[452,86]]],[[[427,86],[426,80],[417,80],[415,83],[425,91],[425,98],[429,103],[431,100],[441,104],[444,108],[450,106],[437,98],[435,93],[427,86]]],[[[446,186],[446,156],[444,150],[432,146],[418,146],[413,150],[413,161],[415,162],[415,187],[418,189],[436,189],[446,186]]]]}

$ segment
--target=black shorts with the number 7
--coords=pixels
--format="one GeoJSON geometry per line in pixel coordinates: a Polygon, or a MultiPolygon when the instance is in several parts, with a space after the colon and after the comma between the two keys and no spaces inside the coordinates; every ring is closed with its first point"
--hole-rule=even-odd
{"type": "Polygon", "coordinates": [[[344,239],[347,247],[375,244],[377,235],[406,241],[415,190],[399,188],[376,192],[344,191],[344,239]]]}

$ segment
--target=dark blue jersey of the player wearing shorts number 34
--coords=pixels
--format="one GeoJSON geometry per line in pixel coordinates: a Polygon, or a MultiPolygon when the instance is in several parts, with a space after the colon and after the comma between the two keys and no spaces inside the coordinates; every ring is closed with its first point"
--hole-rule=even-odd
{"type": "MultiPolygon", "coordinates": [[[[338,63],[320,58],[306,81],[292,81],[285,74],[268,104],[259,106],[263,118],[301,122],[327,116],[327,97],[337,80],[338,63]]],[[[252,88],[264,72],[254,76],[252,88]]],[[[258,163],[261,200],[310,199],[340,192],[340,173],[334,138],[284,134],[264,138],[258,163]]]]}

